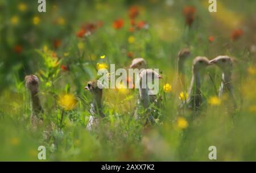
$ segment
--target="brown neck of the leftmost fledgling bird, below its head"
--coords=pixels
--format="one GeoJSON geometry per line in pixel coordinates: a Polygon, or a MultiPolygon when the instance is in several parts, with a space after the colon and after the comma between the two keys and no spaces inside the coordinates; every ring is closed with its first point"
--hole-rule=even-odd
{"type": "Polygon", "coordinates": [[[31,97],[32,113],[37,114],[42,112],[43,108],[40,103],[39,89],[35,88],[34,90],[30,90],[30,97],[31,97]]]}

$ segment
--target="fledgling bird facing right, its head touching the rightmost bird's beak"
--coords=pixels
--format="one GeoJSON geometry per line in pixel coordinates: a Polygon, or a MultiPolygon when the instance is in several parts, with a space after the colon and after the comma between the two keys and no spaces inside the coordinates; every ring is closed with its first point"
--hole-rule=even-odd
{"type": "Polygon", "coordinates": [[[187,101],[188,108],[193,111],[199,111],[202,103],[200,71],[208,65],[210,65],[210,62],[207,57],[198,56],[193,60],[192,79],[187,101]]]}

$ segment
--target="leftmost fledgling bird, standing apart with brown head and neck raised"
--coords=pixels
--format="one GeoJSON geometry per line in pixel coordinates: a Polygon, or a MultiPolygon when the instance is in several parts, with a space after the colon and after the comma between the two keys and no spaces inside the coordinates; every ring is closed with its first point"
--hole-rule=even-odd
{"type": "Polygon", "coordinates": [[[31,104],[31,124],[36,128],[38,124],[42,124],[43,107],[39,98],[39,79],[36,75],[26,75],[25,83],[28,91],[30,91],[31,104]]]}

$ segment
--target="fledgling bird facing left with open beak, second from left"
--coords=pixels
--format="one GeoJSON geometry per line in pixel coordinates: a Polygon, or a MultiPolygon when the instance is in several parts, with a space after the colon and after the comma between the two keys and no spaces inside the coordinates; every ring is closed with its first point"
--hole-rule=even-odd
{"type": "Polygon", "coordinates": [[[102,112],[102,88],[103,86],[97,80],[89,81],[84,87],[93,96],[93,102],[90,104],[90,117],[86,127],[89,131],[97,128],[100,118],[105,117],[102,112]]]}

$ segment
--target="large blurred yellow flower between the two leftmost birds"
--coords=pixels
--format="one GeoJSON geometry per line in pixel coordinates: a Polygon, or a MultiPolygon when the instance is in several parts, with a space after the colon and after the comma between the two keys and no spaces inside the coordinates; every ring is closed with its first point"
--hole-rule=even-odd
{"type": "Polygon", "coordinates": [[[65,111],[71,111],[76,107],[77,100],[72,94],[65,94],[59,97],[58,103],[65,111]]]}

